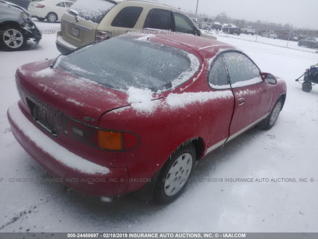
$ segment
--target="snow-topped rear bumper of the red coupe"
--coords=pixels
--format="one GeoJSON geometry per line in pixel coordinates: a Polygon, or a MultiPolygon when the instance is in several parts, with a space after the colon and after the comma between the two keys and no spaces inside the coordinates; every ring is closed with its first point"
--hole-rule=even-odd
{"type": "Polygon", "coordinates": [[[7,111],[12,134],[48,173],[84,194],[124,194],[128,181],[126,168],[101,166],[67,150],[36,127],[32,119],[22,113],[19,104],[23,103],[15,103],[7,111]]]}

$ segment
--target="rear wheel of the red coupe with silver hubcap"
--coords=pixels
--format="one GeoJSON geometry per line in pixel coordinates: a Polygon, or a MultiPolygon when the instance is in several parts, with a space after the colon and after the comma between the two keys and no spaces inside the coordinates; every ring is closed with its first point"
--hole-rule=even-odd
{"type": "Polygon", "coordinates": [[[191,143],[174,151],[160,171],[153,194],[154,201],[166,204],[177,198],[187,184],[195,161],[195,148],[191,143]]]}

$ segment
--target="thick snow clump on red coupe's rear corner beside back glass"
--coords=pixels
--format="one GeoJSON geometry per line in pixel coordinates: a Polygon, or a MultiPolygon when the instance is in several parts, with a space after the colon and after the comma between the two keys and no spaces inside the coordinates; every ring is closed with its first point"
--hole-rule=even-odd
{"type": "Polygon", "coordinates": [[[154,101],[153,92],[150,89],[138,89],[129,87],[127,90],[128,103],[131,107],[141,113],[152,113],[157,102],[154,101]]]}

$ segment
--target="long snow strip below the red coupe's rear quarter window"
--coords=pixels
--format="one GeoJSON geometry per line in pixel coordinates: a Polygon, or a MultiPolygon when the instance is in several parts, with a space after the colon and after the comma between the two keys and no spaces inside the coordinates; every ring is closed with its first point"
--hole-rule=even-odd
{"type": "Polygon", "coordinates": [[[185,107],[193,103],[205,103],[210,100],[220,98],[232,98],[232,91],[216,91],[216,92],[196,92],[169,94],[166,98],[166,103],[171,108],[185,107]]]}

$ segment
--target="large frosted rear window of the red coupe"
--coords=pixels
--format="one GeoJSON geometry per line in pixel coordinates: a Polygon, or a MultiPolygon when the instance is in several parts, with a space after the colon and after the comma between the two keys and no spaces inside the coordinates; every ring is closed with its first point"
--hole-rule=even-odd
{"type": "Polygon", "coordinates": [[[112,89],[155,92],[186,82],[199,66],[198,58],[186,51],[127,35],[83,48],[59,63],[72,74],[112,89]]]}

